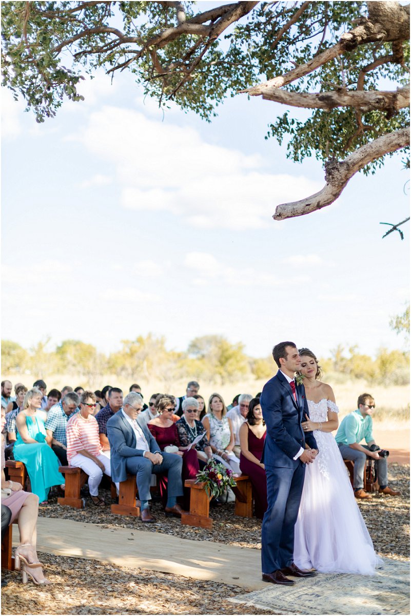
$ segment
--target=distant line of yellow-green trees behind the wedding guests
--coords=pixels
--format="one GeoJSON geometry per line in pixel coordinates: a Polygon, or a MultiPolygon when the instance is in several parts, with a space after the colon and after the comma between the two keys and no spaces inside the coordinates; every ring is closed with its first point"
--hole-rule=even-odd
{"type": "MultiPolygon", "coordinates": [[[[119,351],[105,355],[92,344],[65,340],[55,351],[47,351],[49,339],[24,349],[17,342],[2,341],[2,376],[30,373],[46,378],[57,373],[73,375],[94,383],[104,375],[127,379],[158,379],[165,386],[184,378],[198,378],[218,384],[235,383],[245,378],[269,378],[277,370],[271,356],[249,357],[241,342],[229,342],[224,336],[194,338],[185,352],[168,351],[166,338],[137,336],[122,340],[119,351]]],[[[409,383],[409,353],[381,348],[375,359],[341,344],[320,360],[327,378],[365,379],[370,384],[409,383]]]]}

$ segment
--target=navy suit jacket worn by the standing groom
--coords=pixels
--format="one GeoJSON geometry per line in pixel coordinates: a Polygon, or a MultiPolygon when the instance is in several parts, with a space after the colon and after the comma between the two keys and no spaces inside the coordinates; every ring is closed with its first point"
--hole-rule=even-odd
{"type": "Polygon", "coordinates": [[[265,466],[297,468],[300,460],[293,458],[300,447],[305,448],[305,442],[317,449],[313,432],[301,428],[301,421],[306,421],[305,415],[309,416],[304,386],[296,384],[295,391],[297,401],[280,370],[263,387],[260,403],[267,432],[261,462],[265,466]]]}

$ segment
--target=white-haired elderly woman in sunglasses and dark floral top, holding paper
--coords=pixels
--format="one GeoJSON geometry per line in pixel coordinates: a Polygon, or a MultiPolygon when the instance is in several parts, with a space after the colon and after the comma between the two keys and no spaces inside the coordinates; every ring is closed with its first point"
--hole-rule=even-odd
{"type": "MultiPolygon", "coordinates": [[[[183,416],[175,424],[180,441],[180,451],[184,451],[196,437],[203,434],[203,438],[192,447],[196,450],[199,460],[199,468],[204,468],[206,461],[212,458],[213,452],[207,440],[206,428],[201,421],[197,419],[199,410],[199,401],[194,398],[186,398],[183,400],[183,416]]],[[[193,477],[194,479],[194,477],[193,477]]]]}

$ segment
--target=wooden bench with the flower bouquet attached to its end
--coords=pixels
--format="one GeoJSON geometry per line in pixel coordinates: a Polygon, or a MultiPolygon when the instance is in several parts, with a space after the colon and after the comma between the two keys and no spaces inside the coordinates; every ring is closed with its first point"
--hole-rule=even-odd
{"type": "MultiPolygon", "coordinates": [[[[251,480],[247,475],[236,477],[235,480],[236,485],[231,488],[236,495],[234,513],[236,516],[252,517],[253,496],[251,480]]],[[[213,525],[212,518],[209,516],[211,497],[207,495],[204,487],[206,484],[196,482],[195,479],[186,479],[184,485],[186,488],[191,488],[190,513],[182,515],[182,524],[211,529],[213,525]]]]}

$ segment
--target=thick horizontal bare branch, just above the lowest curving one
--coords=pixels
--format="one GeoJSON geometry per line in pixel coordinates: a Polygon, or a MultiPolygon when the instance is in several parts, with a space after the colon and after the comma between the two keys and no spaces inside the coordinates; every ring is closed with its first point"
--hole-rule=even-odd
{"type": "Polygon", "coordinates": [[[330,111],[335,107],[356,107],[363,113],[375,109],[396,112],[410,104],[410,86],[397,89],[395,92],[380,92],[376,90],[356,91],[341,88],[338,91],[288,92],[281,87],[269,87],[263,91],[263,99],[274,100],[289,107],[306,109],[325,109],[330,111]]]}

